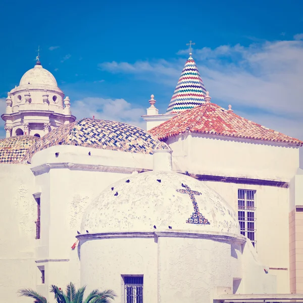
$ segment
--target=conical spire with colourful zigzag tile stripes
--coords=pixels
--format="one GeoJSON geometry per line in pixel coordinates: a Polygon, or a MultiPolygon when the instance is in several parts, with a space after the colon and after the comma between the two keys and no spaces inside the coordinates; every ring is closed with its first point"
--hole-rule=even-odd
{"type": "Polygon", "coordinates": [[[189,54],[166,113],[180,113],[204,104],[206,89],[198,68],[189,54]]]}

